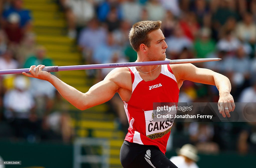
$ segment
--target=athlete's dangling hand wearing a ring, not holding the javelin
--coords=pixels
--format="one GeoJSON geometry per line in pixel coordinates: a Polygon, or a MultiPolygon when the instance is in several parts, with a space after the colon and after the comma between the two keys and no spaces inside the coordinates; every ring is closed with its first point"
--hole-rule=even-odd
{"type": "Polygon", "coordinates": [[[235,107],[233,96],[230,93],[220,95],[218,109],[223,117],[226,117],[226,115],[230,117],[229,112],[234,111],[235,107]]]}

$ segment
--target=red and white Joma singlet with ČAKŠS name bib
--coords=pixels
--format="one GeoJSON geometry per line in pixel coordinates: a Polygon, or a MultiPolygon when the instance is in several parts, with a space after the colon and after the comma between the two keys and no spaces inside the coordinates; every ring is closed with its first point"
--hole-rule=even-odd
{"type": "Polygon", "coordinates": [[[155,145],[164,154],[170,136],[173,121],[152,120],[153,103],[174,102],[179,99],[179,88],[169,65],[161,66],[161,73],[153,81],[145,82],[136,67],[129,67],[132,76],[132,96],[124,102],[124,109],[129,121],[126,141],[155,145]]]}

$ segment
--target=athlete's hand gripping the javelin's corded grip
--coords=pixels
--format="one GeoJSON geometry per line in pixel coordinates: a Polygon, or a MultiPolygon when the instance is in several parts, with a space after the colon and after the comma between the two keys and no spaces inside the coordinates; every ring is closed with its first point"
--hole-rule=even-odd
{"type": "Polygon", "coordinates": [[[50,78],[50,73],[46,72],[46,71],[42,71],[42,69],[45,67],[45,65],[32,65],[29,68],[29,73],[26,72],[22,72],[23,75],[28,76],[28,77],[34,77],[37,79],[41,79],[41,80],[46,80],[48,81],[50,78]],[[35,71],[34,71],[35,68],[35,71]]]}

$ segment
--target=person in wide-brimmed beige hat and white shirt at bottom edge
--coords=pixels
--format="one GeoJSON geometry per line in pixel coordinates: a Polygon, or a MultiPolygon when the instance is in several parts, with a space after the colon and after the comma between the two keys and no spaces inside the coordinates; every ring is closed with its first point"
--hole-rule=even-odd
{"type": "Polygon", "coordinates": [[[199,160],[197,149],[191,144],[185,144],[177,150],[178,156],[173,156],[172,161],[178,168],[199,168],[196,162],[199,160]]]}

